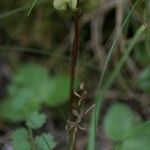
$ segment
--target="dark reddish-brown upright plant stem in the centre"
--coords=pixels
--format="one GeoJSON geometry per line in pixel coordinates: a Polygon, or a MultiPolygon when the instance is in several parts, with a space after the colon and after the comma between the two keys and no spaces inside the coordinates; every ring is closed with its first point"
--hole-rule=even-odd
{"type": "MultiPolygon", "coordinates": [[[[74,12],[74,39],[72,45],[72,54],[71,54],[71,84],[70,84],[70,116],[71,120],[74,119],[72,115],[73,105],[74,105],[74,89],[75,89],[75,77],[76,77],[76,66],[79,54],[79,0],[77,1],[77,10],[74,12]]],[[[69,150],[75,149],[75,129],[72,129],[69,134],[69,150]]]]}

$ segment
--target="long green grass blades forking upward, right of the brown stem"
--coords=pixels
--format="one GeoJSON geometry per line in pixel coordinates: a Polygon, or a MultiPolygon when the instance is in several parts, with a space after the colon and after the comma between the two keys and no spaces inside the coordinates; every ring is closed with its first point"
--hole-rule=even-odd
{"type": "MultiPolygon", "coordinates": [[[[123,25],[122,25],[122,30],[124,29],[127,21],[129,20],[131,14],[133,13],[136,5],[139,3],[139,0],[136,1],[136,3],[134,4],[133,8],[130,10],[128,16],[126,17],[123,25]]],[[[97,94],[96,94],[96,107],[95,110],[93,111],[92,117],[91,117],[91,125],[90,125],[90,129],[89,129],[89,137],[88,137],[88,146],[87,146],[87,150],[93,150],[95,149],[95,144],[96,144],[96,132],[97,132],[97,124],[98,124],[98,119],[99,119],[99,112],[100,112],[100,108],[102,105],[102,102],[104,101],[105,95],[107,90],[112,86],[113,82],[115,81],[116,77],[119,75],[123,65],[125,64],[126,60],[128,59],[128,56],[130,54],[130,52],[133,50],[136,42],[138,41],[140,35],[144,32],[145,30],[145,26],[141,26],[135,36],[133,37],[133,39],[131,40],[131,42],[129,43],[128,47],[124,50],[124,54],[123,56],[120,58],[120,60],[118,61],[118,63],[116,64],[116,67],[114,68],[114,70],[112,71],[110,77],[108,78],[108,80],[106,81],[106,83],[104,84],[104,86],[102,87],[102,83],[103,83],[103,78],[105,76],[105,72],[107,70],[107,66],[109,64],[109,61],[111,59],[111,55],[112,52],[114,50],[114,47],[117,43],[118,40],[118,36],[116,36],[116,39],[114,40],[108,56],[107,56],[107,60],[104,66],[104,69],[102,71],[102,74],[100,76],[100,80],[99,80],[99,85],[98,85],[98,89],[97,89],[97,94]]]]}

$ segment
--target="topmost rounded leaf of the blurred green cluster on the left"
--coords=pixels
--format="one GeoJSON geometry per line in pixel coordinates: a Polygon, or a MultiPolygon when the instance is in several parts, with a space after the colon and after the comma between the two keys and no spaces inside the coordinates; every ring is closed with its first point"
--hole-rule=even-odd
{"type": "Polygon", "coordinates": [[[50,82],[48,71],[44,67],[39,64],[25,64],[14,74],[8,93],[16,95],[19,90],[28,88],[35,92],[38,99],[43,100],[49,93],[50,82]]]}

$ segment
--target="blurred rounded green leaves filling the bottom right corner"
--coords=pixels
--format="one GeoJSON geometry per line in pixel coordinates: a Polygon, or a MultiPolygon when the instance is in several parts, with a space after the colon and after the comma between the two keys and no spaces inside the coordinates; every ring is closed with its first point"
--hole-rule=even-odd
{"type": "Polygon", "coordinates": [[[108,138],[113,142],[114,150],[148,150],[150,147],[149,122],[143,122],[125,104],[117,103],[111,106],[103,126],[108,138]]]}

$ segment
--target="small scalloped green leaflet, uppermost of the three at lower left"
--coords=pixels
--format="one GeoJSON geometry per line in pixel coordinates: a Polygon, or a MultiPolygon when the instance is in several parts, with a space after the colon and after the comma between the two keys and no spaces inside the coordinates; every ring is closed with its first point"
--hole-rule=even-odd
{"type": "Polygon", "coordinates": [[[46,115],[34,112],[26,120],[26,126],[31,129],[39,129],[46,122],[46,115]]]}

